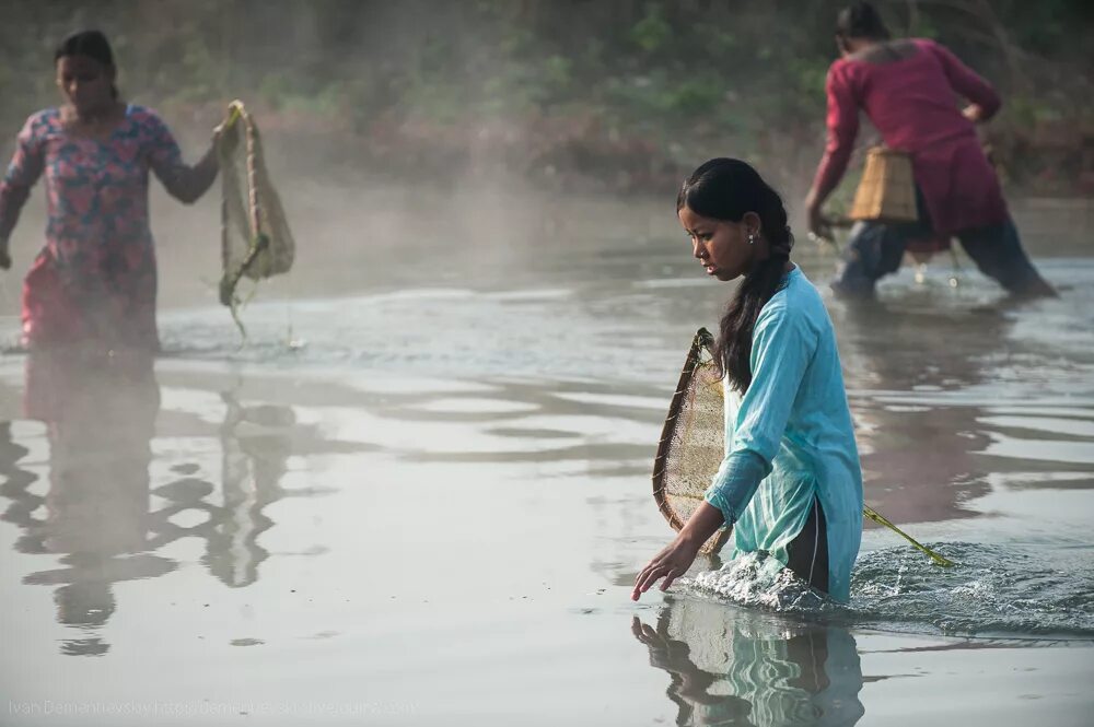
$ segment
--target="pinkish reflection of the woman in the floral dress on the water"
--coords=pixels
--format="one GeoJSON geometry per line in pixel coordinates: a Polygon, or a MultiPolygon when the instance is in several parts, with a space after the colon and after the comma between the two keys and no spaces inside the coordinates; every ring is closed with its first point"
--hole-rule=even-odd
{"type": "Polygon", "coordinates": [[[159,407],[150,356],[97,359],[66,352],[27,360],[27,415],[47,425],[48,491],[45,496],[28,492],[37,478],[19,469],[27,450],[11,443],[5,427],[3,467],[18,479],[7,483],[4,494],[14,502],[4,518],[24,530],[20,550],[59,554],[66,566],[24,578],[26,584],[57,586],[58,622],[82,632],[62,644],[65,654],[107,652],[98,632],[116,608],[113,584],[175,567],[148,553],[154,533],[148,507],[149,443],[159,407]],[[36,516],[39,509],[44,515],[36,516]]]}

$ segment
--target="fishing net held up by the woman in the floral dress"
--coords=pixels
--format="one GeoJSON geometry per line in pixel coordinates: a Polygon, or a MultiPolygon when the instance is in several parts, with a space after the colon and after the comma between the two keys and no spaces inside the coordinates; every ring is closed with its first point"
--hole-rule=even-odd
{"type": "Polygon", "coordinates": [[[241,102],[229,107],[217,151],[222,190],[220,302],[231,308],[244,332],[238,317],[244,301],[236,292],[240,281],[258,282],[288,272],[296,245],[266,169],[258,126],[241,102]]]}

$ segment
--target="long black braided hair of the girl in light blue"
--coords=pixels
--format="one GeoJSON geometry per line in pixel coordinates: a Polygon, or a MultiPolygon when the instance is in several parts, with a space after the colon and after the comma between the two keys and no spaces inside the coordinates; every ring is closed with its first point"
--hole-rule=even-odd
{"type": "Polygon", "coordinates": [[[712,159],[684,180],[676,211],[688,208],[698,215],[741,222],[746,212],[760,220],[760,233],[770,255],[745,274],[719,324],[714,361],[722,375],[741,392],[752,384],[753,329],[759,312],[784,284],[785,266],[794,237],[787,226],[782,198],[747,163],[712,159]]]}

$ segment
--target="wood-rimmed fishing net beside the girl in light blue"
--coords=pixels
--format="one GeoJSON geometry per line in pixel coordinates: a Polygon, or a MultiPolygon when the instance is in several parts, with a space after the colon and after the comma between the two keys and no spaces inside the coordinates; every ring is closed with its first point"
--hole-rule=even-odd
{"type": "MultiPolygon", "coordinates": [[[[702,503],[725,456],[722,382],[715,373],[713,344],[706,328],[696,332],[653,460],[653,497],[675,530],[702,503]]],[[[729,529],[719,530],[703,543],[702,552],[717,553],[729,537],[729,529]]]]}

